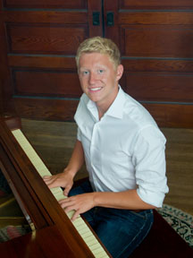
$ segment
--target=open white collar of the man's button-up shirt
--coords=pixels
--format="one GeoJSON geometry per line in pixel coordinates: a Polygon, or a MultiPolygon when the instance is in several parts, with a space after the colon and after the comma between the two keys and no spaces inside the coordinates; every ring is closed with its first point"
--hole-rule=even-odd
{"type": "MultiPolygon", "coordinates": [[[[118,94],[117,94],[116,98],[114,99],[113,104],[106,111],[105,116],[113,116],[116,118],[122,118],[124,100],[125,100],[124,91],[122,90],[122,87],[119,85],[118,94]]],[[[87,107],[88,107],[88,110],[91,112],[91,114],[97,120],[98,112],[97,112],[96,103],[94,101],[88,99],[87,107]]]]}

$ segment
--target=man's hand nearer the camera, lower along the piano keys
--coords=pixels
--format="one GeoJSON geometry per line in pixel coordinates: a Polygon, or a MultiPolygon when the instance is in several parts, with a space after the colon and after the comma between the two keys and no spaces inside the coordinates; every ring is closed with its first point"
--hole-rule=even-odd
{"type": "Polygon", "coordinates": [[[59,203],[66,213],[69,211],[75,211],[71,218],[71,220],[74,221],[81,213],[89,211],[95,207],[94,194],[95,193],[82,193],[63,199],[59,201],[59,203]]]}

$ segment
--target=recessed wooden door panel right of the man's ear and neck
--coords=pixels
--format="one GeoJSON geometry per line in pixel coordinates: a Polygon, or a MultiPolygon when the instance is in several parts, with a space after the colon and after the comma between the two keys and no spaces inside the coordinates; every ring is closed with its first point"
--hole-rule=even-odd
{"type": "Polygon", "coordinates": [[[126,92],[134,99],[192,102],[193,73],[126,73],[126,92]],[[181,92],[183,91],[183,94],[181,92]]]}

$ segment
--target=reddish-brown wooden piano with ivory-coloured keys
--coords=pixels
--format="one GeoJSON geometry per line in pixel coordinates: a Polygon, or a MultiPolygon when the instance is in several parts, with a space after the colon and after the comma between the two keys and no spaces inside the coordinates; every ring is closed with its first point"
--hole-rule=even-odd
{"type": "Polygon", "coordinates": [[[62,189],[44,183],[42,176],[51,174],[22,133],[19,118],[0,117],[0,168],[31,228],[1,243],[1,257],[111,257],[84,219],[71,222],[73,211],[63,211],[62,189]]]}

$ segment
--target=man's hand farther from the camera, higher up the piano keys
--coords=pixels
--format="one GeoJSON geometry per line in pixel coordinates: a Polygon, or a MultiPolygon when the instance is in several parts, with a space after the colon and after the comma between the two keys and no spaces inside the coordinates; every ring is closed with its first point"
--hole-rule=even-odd
{"type": "Polygon", "coordinates": [[[65,170],[63,173],[54,176],[44,176],[43,179],[49,188],[57,186],[63,187],[63,194],[65,196],[68,196],[68,193],[70,192],[73,185],[73,176],[71,176],[69,173],[66,173],[65,170]]]}

